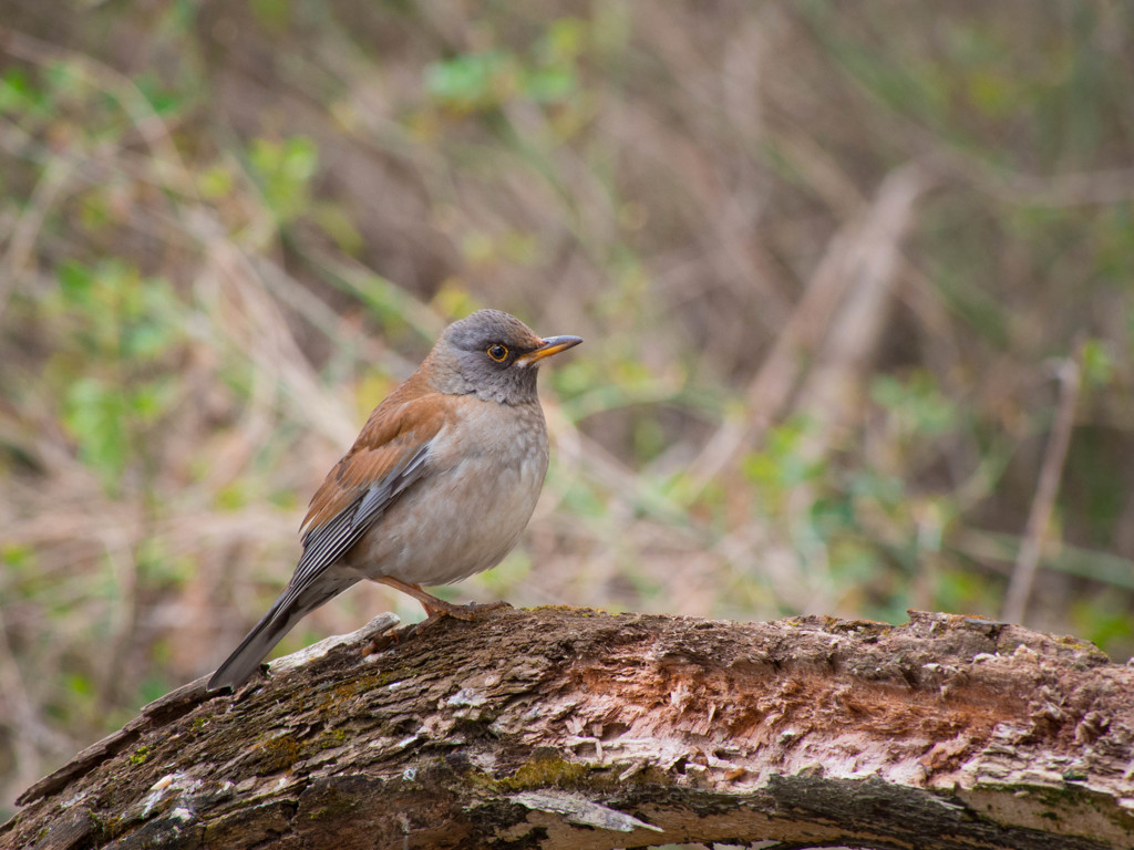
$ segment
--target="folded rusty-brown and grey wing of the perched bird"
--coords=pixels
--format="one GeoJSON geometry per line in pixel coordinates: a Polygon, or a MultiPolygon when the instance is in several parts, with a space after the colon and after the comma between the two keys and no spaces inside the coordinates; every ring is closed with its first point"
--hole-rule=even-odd
{"type": "Polygon", "coordinates": [[[373,527],[425,470],[433,439],[447,417],[433,393],[391,396],[363,427],[350,451],[311,499],[303,521],[303,556],[288,583],[298,596],[373,527]]]}

